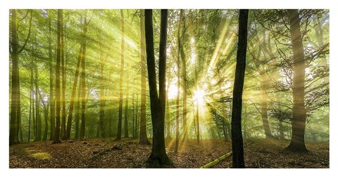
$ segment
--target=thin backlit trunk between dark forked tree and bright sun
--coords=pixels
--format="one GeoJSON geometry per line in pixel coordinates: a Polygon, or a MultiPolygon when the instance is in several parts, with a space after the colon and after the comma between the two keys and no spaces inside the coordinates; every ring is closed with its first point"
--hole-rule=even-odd
{"type": "Polygon", "coordinates": [[[182,10],[180,11],[180,22],[178,22],[177,29],[177,97],[176,97],[176,138],[175,138],[175,153],[178,150],[178,141],[180,138],[180,51],[181,51],[181,39],[180,30],[182,23],[182,10]]]}

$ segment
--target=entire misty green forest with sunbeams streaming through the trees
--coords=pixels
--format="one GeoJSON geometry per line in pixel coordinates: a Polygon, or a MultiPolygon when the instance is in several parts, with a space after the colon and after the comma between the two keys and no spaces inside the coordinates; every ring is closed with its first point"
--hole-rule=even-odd
{"type": "Polygon", "coordinates": [[[327,9],[10,9],[9,168],[330,168],[327,9]]]}

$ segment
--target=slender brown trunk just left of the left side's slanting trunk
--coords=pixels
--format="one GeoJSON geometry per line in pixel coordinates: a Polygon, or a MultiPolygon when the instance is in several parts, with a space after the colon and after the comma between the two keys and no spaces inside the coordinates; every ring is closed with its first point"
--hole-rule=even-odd
{"type": "Polygon", "coordinates": [[[57,52],[56,52],[56,129],[53,143],[61,143],[60,140],[60,113],[61,113],[61,91],[60,91],[60,64],[61,64],[61,30],[63,26],[62,9],[58,9],[58,31],[57,31],[57,52]]]}

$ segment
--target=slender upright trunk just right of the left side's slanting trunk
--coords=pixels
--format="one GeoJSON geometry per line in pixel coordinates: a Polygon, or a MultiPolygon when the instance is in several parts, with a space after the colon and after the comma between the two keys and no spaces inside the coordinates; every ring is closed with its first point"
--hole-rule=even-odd
{"type": "MultiPolygon", "coordinates": [[[[88,10],[84,10],[84,34],[87,34],[87,13],[88,10]]],[[[85,36],[84,36],[85,39],[85,36]]],[[[81,57],[81,130],[80,130],[80,139],[86,140],[84,133],[85,133],[85,125],[86,125],[86,48],[87,48],[87,41],[83,42],[82,48],[82,57],[81,57]]]]}

